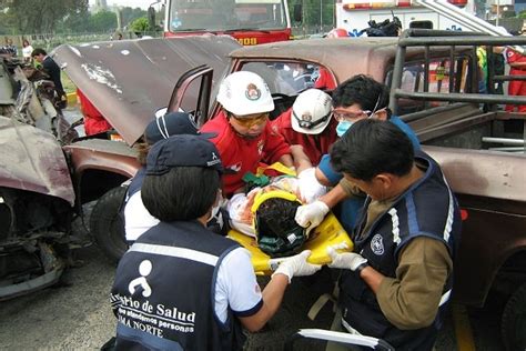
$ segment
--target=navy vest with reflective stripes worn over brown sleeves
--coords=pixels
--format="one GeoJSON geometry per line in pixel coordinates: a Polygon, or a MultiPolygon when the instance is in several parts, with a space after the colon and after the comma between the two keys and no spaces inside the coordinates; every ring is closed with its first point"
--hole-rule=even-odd
{"type": "MultiPolygon", "coordinates": [[[[456,199],[447,185],[438,164],[422,151],[415,160],[427,164],[416,183],[381,214],[371,229],[356,238],[366,224],[364,210],[354,233],[355,252],[368,264],[391,278],[396,277],[399,252],[414,238],[428,237],[446,244],[452,259],[459,242],[461,214],[456,199]]],[[[367,209],[371,198],[365,201],[367,209]]],[[[442,327],[442,314],[451,295],[453,277],[449,274],[443,290],[443,301],[435,322],[417,330],[399,330],[382,313],[371,288],[353,271],[344,270],[340,281],[340,302],[343,319],[364,335],[381,338],[396,350],[431,350],[442,327]]]]}

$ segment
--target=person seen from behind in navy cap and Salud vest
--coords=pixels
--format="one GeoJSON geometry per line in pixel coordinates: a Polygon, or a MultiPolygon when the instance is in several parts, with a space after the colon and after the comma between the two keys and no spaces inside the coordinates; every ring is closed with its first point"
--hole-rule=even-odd
{"type": "Polygon", "coordinates": [[[276,312],[293,277],[310,275],[310,251],[284,259],[264,293],[250,253],[205,228],[223,166],[200,136],[156,142],[141,198],[160,222],[122,257],[110,301],[117,350],[241,350],[241,327],[257,331],[276,312]]]}

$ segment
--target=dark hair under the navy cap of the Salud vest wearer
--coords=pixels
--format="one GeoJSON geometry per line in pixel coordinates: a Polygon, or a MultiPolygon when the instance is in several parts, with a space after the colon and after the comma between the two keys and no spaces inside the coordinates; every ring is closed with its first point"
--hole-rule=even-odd
{"type": "Polygon", "coordinates": [[[146,176],[141,187],[144,207],[164,222],[195,220],[209,211],[221,188],[214,169],[174,167],[161,176],[146,176]]]}

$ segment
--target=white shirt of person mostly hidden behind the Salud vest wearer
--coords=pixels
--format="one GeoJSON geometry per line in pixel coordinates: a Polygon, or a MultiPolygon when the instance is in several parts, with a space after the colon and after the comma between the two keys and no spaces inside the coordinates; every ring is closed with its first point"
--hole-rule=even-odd
{"type": "Polygon", "coordinates": [[[124,207],[124,230],[128,241],[135,241],[150,228],[159,224],[159,220],[148,212],[142,203],[141,191],[139,190],[128,199],[124,207]]]}

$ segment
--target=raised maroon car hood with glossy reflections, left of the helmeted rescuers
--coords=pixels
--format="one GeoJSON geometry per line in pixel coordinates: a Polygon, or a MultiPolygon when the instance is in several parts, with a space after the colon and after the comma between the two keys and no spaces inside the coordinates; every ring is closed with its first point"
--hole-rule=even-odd
{"type": "Polygon", "coordinates": [[[184,72],[206,64],[220,77],[230,62],[227,54],[240,47],[229,36],[208,34],[63,44],[51,56],[124,140],[133,144],[154,112],[168,106],[184,72]]]}

